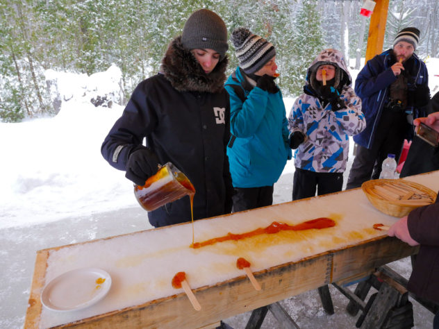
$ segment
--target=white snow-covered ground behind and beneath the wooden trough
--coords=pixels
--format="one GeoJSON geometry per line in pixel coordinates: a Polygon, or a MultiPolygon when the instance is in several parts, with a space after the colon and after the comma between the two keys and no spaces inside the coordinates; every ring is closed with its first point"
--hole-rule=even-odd
{"type": "MultiPolygon", "coordinates": [[[[426,65],[434,94],[439,86],[439,58],[429,58],[426,65]]],[[[100,153],[103,138],[123,107],[94,107],[90,99],[103,93],[117,95],[119,69],[112,66],[92,76],[47,74],[58,80],[61,99],[68,99],[59,114],[20,124],[0,123],[0,328],[23,326],[35,251],[151,228],[146,212],[135,201],[132,183],[100,153]]],[[[353,80],[356,74],[351,70],[353,80]]],[[[284,99],[287,113],[294,100],[284,99]]],[[[275,185],[275,203],[291,200],[293,172],[291,160],[275,185]]],[[[408,260],[396,262],[395,267],[410,275],[408,260]]],[[[331,292],[336,306],[331,317],[322,310],[315,292],[289,298],[283,305],[300,319],[301,328],[353,328],[355,318],[342,310],[347,300],[331,292]]],[[[242,328],[248,316],[228,320],[242,328]]],[[[431,328],[432,318],[416,308],[416,328],[431,328]]],[[[271,324],[264,323],[263,328],[273,328],[274,322],[267,319],[267,323],[271,324]]]]}

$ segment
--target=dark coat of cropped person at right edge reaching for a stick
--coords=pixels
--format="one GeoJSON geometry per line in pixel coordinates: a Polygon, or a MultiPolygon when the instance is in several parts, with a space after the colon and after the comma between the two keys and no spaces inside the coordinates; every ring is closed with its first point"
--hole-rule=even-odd
{"type": "Polygon", "coordinates": [[[407,226],[411,237],[421,245],[407,289],[439,303],[439,197],[436,203],[408,214],[407,226]]]}

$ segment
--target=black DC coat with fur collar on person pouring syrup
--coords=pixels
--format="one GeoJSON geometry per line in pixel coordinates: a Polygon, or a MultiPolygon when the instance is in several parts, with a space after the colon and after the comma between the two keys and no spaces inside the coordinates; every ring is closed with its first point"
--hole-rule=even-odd
{"type": "MultiPolygon", "coordinates": [[[[230,138],[229,94],[224,90],[228,59],[208,75],[181,37],[169,44],[162,73],[142,81],[104,140],[101,153],[125,170],[133,149],[146,137],[160,164],[172,162],[195,187],[194,219],[230,212],[231,176],[226,146],[230,138]]],[[[190,221],[190,199],[183,197],[149,212],[155,227],[190,221]]]]}

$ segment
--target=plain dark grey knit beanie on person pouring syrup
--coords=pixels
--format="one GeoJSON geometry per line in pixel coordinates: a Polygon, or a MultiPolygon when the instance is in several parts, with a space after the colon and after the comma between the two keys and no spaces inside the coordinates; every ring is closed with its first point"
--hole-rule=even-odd
{"type": "Polygon", "coordinates": [[[229,49],[226,24],[208,9],[200,9],[190,15],[183,28],[181,42],[188,50],[213,49],[219,53],[221,60],[229,49]]]}

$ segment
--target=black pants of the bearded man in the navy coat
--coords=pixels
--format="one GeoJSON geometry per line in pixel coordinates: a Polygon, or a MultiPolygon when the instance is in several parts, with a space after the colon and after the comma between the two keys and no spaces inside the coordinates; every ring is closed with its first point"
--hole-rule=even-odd
{"type": "Polygon", "coordinates": [[[407,129],[408,123],[404,113],[383,110],[374,133],[372,147],[370,149],[361,145],[357,147],[346,189],[361,187],[366,180],[378,179],[381,165],[388,153],[395,154],[395,160],[398,163],[407,129]]]}

